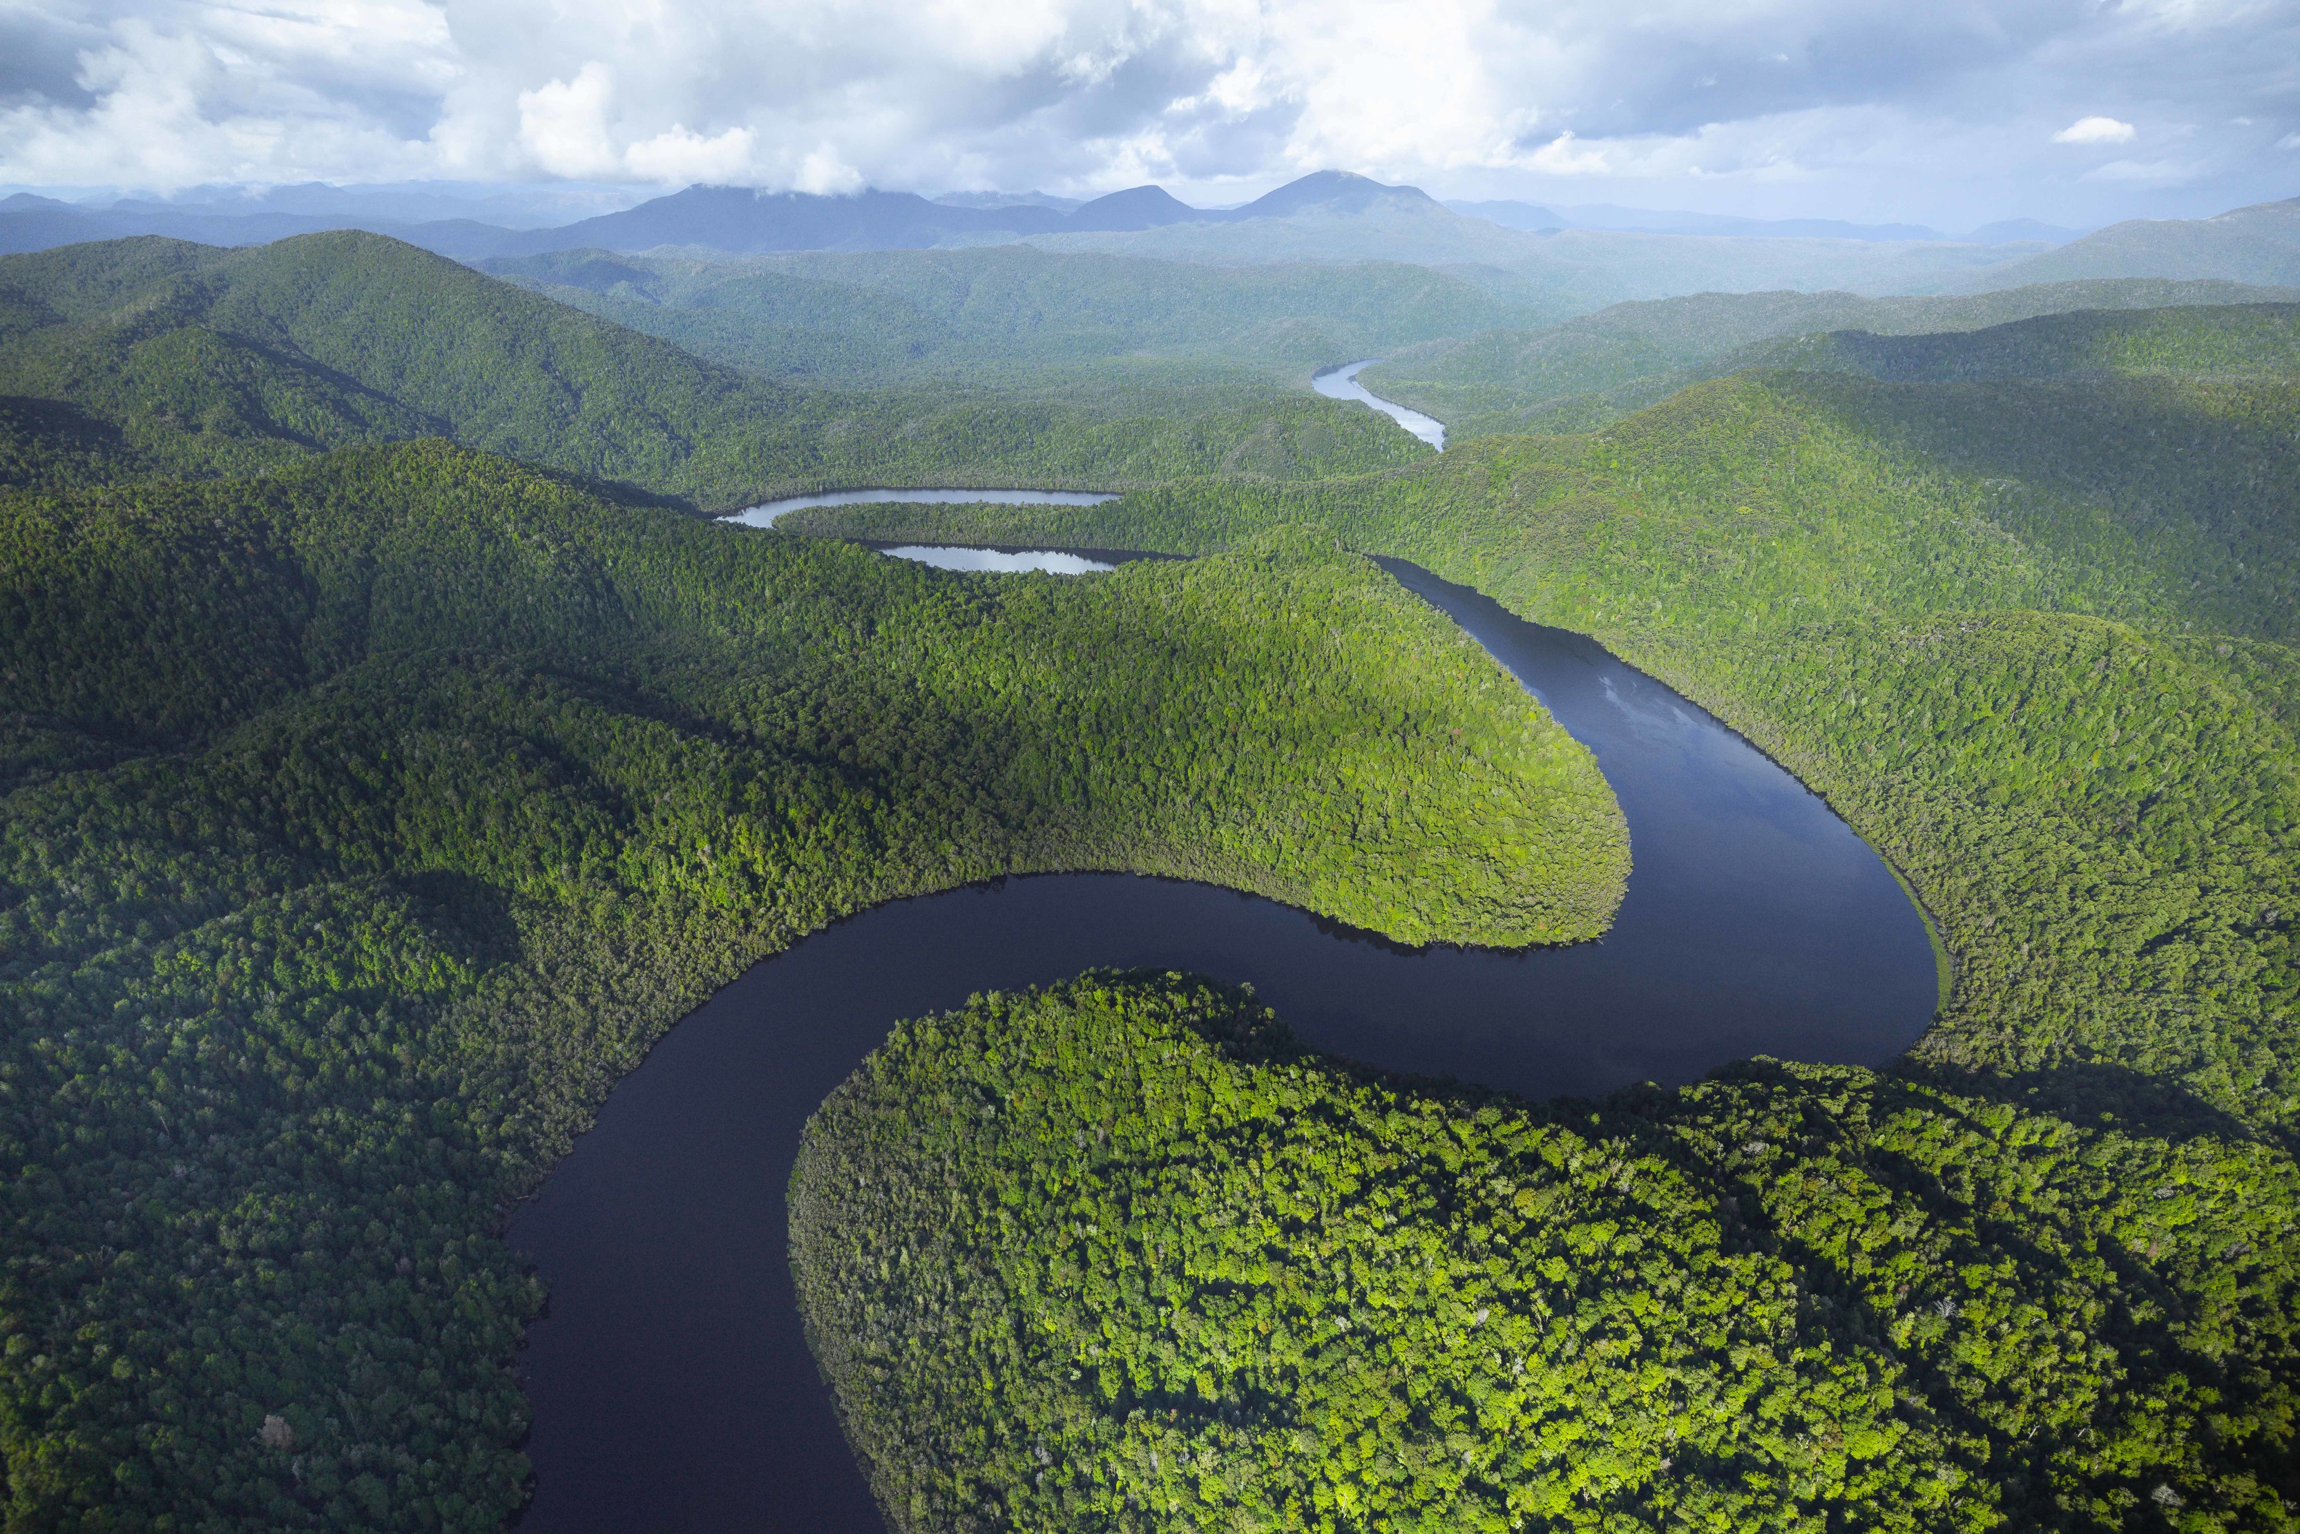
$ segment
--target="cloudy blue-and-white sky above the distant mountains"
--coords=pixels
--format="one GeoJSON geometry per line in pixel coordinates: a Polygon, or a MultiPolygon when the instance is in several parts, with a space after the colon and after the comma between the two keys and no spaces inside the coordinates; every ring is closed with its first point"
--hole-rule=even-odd
{"type": "Polygon", "coordinates": [[[2300,0],[0,0],[0,184],[1309,170],[1971,228],[2300,195],[2300,0]]]}

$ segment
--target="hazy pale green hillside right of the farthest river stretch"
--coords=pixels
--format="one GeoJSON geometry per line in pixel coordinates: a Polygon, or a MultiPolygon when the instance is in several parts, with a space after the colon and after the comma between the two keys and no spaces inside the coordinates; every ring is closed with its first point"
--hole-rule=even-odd
{"type": "MultiPolygon", "coordinates": [[[[1702,292],[1617,304],[1539,331],[1493,331],[1396,352],[1366,386],[1447,423],[1458,439],[1592,430],[1656,405],[1686,384],[1757,366],[1757,343],[1819,331],[1884,336],[1971,331],[2079,308],[2272,304],[2291,287],[2098,278],[1971,297],[1868,299],[1851,292],[1702,292]],[[1739,354],[1750,350],[1743,361],[1739,354]]],[[[1787,354],[1782,354],[1787,359],[1787,354]]],[[[1782,366],[1801,366],[1785,361],[1782,366]]]]}

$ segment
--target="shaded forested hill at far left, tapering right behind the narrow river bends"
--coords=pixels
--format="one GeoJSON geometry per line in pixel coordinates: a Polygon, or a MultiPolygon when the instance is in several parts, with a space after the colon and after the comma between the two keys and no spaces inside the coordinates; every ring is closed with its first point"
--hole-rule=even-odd
{"type": "Polygon", "coordinates": [[[1419,453],[1316,398],[793,391],[379,235],[0,260],[0,485],[246,474],[425,435],[706,511],[826,483],[1099,488],[1419,453]]]}

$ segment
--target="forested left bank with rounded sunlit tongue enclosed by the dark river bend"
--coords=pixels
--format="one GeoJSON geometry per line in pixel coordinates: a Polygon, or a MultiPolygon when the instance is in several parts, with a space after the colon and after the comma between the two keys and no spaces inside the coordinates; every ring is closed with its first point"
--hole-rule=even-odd
{"type": "Polygon", "coordinates": [[[497,1527],[506,1201],[837,915],[1122,867],[1523,943],[1626,874],[1587,752],[1311,536],[966,577],[354,448],[0,499],[0,685],[25,1529],[497,1527]]]}

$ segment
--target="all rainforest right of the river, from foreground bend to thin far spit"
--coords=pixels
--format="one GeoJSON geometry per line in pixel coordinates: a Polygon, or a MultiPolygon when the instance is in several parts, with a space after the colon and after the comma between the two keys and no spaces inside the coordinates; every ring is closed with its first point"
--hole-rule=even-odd
{"type": "Polygon", "coordinates": [[[807,513],[1178,552],[1322,520],[1718,711],[1955,959],[1888,1072],[1550,1109],[1355,1076],[1178,977],[902,1028],[793,1226],[890,1518],[2293,1527],[2288,313],[1838,338],[1920,382],[1743,373],[1297,494],[807,513]]]}

